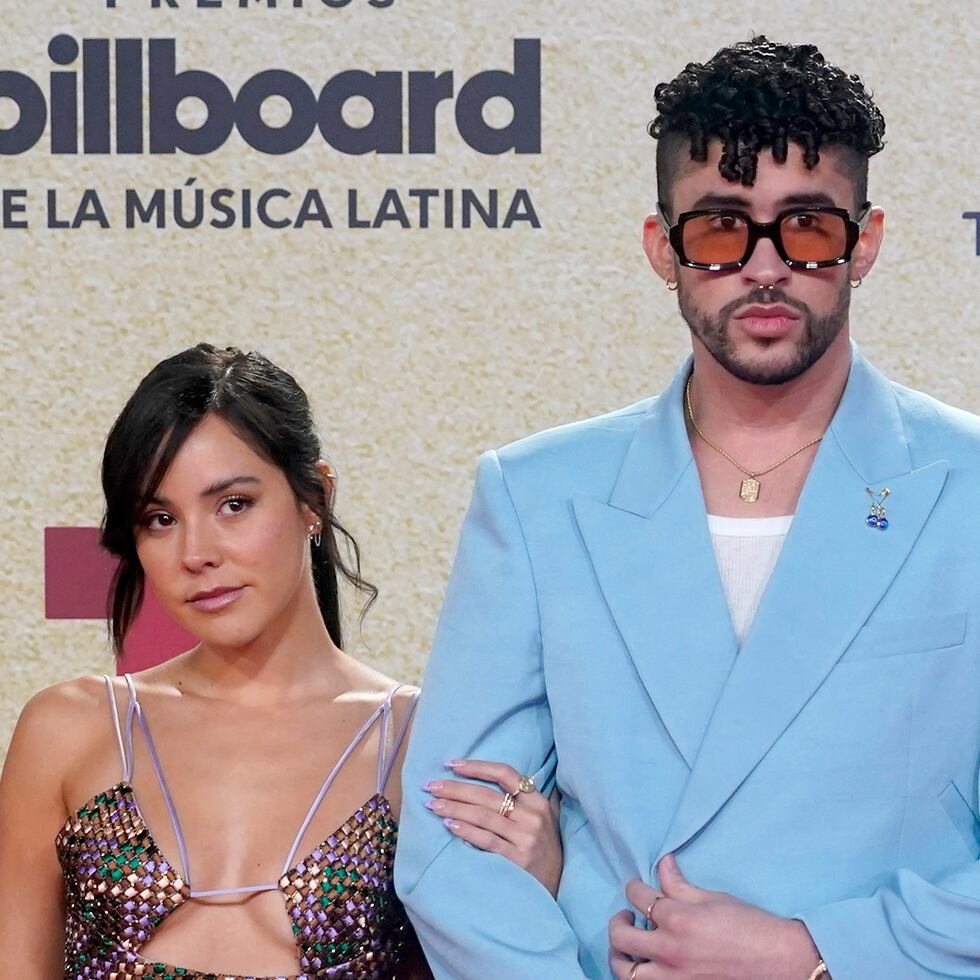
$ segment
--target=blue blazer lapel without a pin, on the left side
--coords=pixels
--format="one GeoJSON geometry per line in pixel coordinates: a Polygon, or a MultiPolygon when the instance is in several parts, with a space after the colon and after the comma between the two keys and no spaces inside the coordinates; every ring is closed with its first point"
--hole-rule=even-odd
{"type": "Polygon", "coordinates": [[[737,641],[684,425],[689,372],[690,361],[640,424],[609,501],[572,502],[637,677],[691,766],[737,641]]]}

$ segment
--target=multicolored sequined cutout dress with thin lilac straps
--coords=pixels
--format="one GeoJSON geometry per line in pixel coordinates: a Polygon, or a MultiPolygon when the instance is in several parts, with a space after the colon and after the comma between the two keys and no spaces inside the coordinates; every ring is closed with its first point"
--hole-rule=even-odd
{"type": "Polygon", "coordinates": [[[361,726],[326,778],[296,834],[278,881],[197,891],[191,886],[184,835],[132,678],[126,675],[130,697],[124,726],[120,726],[112,682],[108,677],[105,680],[123,779],[69,818],[55,841],[67,897],[66,978],[389,980],[411,972],[405,964],[416,955],[414,937],[392,884],[398,827],[384,796],[411,717],[411,711],[407,712],[399,732],[389,739],[394,690],[361,726]],[[295,861],[303,834],[337,773],[379,718],[381,751],[375,795],[310,854],[295,861]],[[133,795],[134,719],[139,721],[170,813],[180,868],[157,847],[133,795]],[[259,978],[201,973],[140,956],[140,948],[160,923],[188,899],[260,891],[279,891],[282,895],[296,939],[297,974],[259,978]]]}

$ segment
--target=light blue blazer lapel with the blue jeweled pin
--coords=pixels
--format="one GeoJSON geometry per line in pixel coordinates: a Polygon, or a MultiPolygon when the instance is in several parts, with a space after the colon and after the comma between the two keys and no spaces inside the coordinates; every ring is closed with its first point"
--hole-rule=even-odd
{"type": "Polygon", "coordinates": [[[844,396],[659,856],[711,820],[820,687],[901,569],[946,473],[944,462],[912,469],[891,385],[855,349],[844,396]],[[886,485],[890,526],[882,531],[865,524],[865,488],[886,485]]]}

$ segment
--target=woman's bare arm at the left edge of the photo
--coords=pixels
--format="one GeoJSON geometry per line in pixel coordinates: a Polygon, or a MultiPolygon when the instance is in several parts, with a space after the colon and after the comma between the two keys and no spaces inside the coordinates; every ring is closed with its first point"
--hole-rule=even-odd
{"type": "Polygon", "coordinates": [[[4,975],[58,980],[64,883],[54,838],[65,821],[63,752],[74,711],[59,688],[24,708],[0,776],[0,962],[4,975]]]}

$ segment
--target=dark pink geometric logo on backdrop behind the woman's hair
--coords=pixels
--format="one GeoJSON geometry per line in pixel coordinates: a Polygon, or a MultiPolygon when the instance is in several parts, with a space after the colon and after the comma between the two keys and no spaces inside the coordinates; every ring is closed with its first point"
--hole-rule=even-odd
{"type": "MultiPolygon", "coordinates": [[[[44,529],[44,615],[47,619],[106,618],[116,559],[99,545],[96,527],[44,529]]],[[[118,673],[132,673],[189,650],[197,641],[160,607],[151,589],[126,637],[118,673]]]]}

